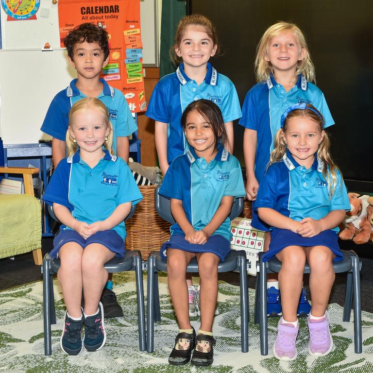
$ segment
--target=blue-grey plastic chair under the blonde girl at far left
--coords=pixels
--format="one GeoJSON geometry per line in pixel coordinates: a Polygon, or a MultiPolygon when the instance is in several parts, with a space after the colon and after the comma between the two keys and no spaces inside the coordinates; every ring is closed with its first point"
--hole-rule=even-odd
{"type": "MultiPolygon", "coordinates": [[[[48,205],[49,213],[55,220],[53,209],[48,205]]],[[[130,214],[125,220],[131,218],[136,210],[136,205],[132,206],[130,214]]],[[[57,220],[58,221],[58,220],[57,220]]],[[[56,323],[56,313],[54,307],[53,278],[60,268],[60,259],[52,259],[46,254],[43,261],[43,304],[44,304],[44,354],[52,354],[51,346],[51,324],[56,323]]],[[[137,294],[137,320],[138,320],[138,339],[140,351],[146,350],[146,332],[145,332],[145,305],[144,305],[144,285],[142,279],[142,259],[141,253],[136,251],[126,251],[123,258],[114,257],[105,263],[104,268],[109,273],[135,271],[136,272],[136,294],[137,294]]]]}

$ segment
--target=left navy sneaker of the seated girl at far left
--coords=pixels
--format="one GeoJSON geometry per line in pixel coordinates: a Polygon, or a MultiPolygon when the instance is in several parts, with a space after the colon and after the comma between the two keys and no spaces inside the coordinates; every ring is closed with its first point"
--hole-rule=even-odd
{"type": "Polygon", "coordinates": [[[61,350],[66,355],[78,355],[82,351],[82,320],[76,321],[68,317],[65,312],[64,329],[60,339],[61,350]]]}

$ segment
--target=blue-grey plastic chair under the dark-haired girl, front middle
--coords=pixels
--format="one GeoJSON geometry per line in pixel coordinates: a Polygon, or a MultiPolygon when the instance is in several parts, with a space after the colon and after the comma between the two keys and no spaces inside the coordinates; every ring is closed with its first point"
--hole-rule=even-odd
{"type": "MultiPolygon", "coordinates": [[[[158,194],[160,185],[155,188],[155,210],[171,224],[175,223],[171,215],[170,200],[158,194]]],[[[243,198],[237,198],[233,203],[229,218],[236,218],[243,207],[243,198]]],[[[148,258],[148,301],[147,301],[147,351],[154,350],[154,320],[160,321],[158,271],[167,272],[167,261],[162,259],[159,251],[153,251],[148,258]]],[[[186,267],[187,272],[198,272],[198,263],[193,258],[186,267]]],[[[239,272],[241,301],[241,351],[249,351],[249,303],[247,288],[246,252],[244,250],[231,252],[218,265],[218,272],[239,272]]]]}

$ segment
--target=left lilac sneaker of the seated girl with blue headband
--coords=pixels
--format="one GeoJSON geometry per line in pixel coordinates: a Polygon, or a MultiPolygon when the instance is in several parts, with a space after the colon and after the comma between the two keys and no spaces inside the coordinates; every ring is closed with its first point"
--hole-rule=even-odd
{"type": "Polygon", "coordinates": [[[297,339],[299,322],[295,327],[292,324],[284,323],[283,318],[280,319],[277,325],[277,338],[274,342],[272,351],[273,355],[284,361],[294,360],[297,357],[297,349],[295,341],[297,339]]]}

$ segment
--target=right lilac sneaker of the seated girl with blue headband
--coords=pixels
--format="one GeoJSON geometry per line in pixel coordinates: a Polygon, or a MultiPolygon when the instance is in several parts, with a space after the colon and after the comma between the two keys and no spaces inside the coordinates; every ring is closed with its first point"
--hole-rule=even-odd
{"type": "Polygon", "coordinates": [[[329,314],[321,320],[310,321],[307,318],[309,330],[308,352],[312,356],[324,356],[333,350],[333,339],[329,330],[329,314]]]}

